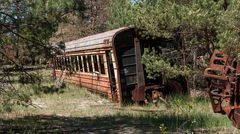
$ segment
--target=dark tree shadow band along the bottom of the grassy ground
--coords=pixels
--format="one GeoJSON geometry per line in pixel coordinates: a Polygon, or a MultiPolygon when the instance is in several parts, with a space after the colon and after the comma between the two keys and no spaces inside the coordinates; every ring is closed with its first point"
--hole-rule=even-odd
{"type": "MultiPolygon", "coordinates": [[[[0,133],[160,133],[161,124],[171,132],[186,132],[186,130],[197,132],[195,128],[202,128],[204,119],[207,117],[200,118],[202,120],[199,120],[199,123],[194,124],[193,127],[191,120],[176,116],[62,117],[37,115],[0,119],[0,133]]],[[[200,133],[205,131],[201,130],[200,133]]]]}

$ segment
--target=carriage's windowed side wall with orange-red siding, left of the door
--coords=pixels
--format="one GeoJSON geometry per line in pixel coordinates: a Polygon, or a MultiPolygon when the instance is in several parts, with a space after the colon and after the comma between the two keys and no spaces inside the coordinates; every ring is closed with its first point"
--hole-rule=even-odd
{"type": "MultiPolygon", "coordinates": [[[[67,64],[72,64],[73,66],[73,72],[75,72],[72,75],[67,75],[65,81],[77,85],[81,85],[84,87],[87,87],[88,89],[95,89],[96,91],[100,93],[106,93],[109,94],[108,97],[111,99],[111,92],[109,90],[109,78],[106,74],[107,68],[106,68],[106,59],[103,58],[104,55],[75,55],[75,56],[66,56],[64,60],[67,61],[67,64]],[[91,61],[85,60],[86,65],[84,65],[83,57],[91,57],[91,61]],[[93,57],[96,56],[96,62],[94,62],[93,57]],[[102,58],[101,58],[102,57],[102,58]],[[69,59],[69,60],[67,60],[69,59]],[[77,59],[77,60],[76,60],[77,59]],[[100,64],[100,59],[102,59],[102,64],[100,64]],[[94,64],[97,63],[97,64],[94,64]],[[86,67],[84,67],[86,66],[86,67]],[[97,66],[97,67],[96,67],[97,66]],[[98,74],[99,72],[99,74],[98,74]]],[[[63,66],[59,63],[63,63],[63,57],[56,58],[56,75],[60,77],[62,71],[64,69],[63,66]]],[[[86,58],[87,59],[87,58],[86,58]]],[[[67,70],[70,70],[70,68],[67,68],[67,70]]]]}

